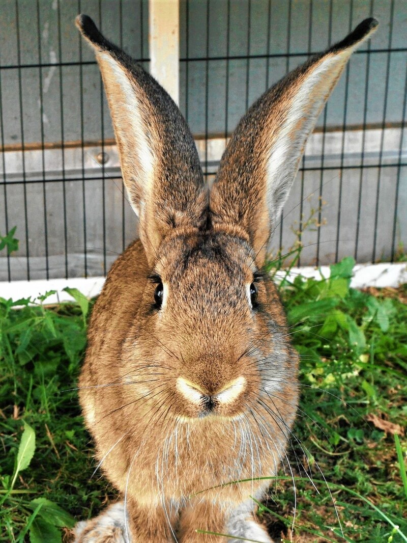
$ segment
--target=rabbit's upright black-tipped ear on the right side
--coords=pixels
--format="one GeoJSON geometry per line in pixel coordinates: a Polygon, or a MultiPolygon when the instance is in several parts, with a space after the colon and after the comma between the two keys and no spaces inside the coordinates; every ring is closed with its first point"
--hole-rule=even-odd
{"type": "Polygon", "coordinates": [[[366,19],[266,91],[228,143],[209,197],[212,225],[242,227],[260,266],[316,119],[349,56],[377,25],[376,19],[366,19]]]}

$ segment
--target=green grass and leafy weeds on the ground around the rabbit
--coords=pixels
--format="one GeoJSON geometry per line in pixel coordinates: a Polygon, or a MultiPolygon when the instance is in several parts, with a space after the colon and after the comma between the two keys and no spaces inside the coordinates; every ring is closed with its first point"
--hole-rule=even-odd
{"type": "MultiPolygon", "coordinates": [[[[279,287],[302,395],[291,468],[270,480],[259,516],[282,541],[407,541],[407,288],[355,291],[352,267],[279,287]]],[[[92,302],[69,292],[56,306],[49,293],[35,306],[0,299],[0,541],[68,541],[75,517],[116,495],[91,478],[74,388],[92,302]]]]}

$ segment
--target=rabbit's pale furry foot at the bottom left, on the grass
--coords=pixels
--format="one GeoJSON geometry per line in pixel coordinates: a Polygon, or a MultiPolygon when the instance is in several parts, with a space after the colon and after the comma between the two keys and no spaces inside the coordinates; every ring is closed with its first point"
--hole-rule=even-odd
{"type": "Polygon", "coordinates": [[[74,543],[131,543],[126,534],[124,503],[114,503],[94,519],[78,522],[74,543]]]}

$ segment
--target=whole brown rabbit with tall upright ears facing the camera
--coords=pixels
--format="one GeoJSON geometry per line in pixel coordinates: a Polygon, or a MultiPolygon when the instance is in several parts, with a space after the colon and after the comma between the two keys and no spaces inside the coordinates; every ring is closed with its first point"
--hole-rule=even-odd
{"type": "Polygon", "coordinates": [[[353,50],[377,27],[296,68],[241,119],[212,190],[173,100],[86,15],[140,238],[93,310],[80,402],[122,501],[78,543],[270,542],[255,519],[286,458],[298,355],[262,273],[307,137],[353,50]],[[237,483],[250,479],[249,483],[237,483]]]}

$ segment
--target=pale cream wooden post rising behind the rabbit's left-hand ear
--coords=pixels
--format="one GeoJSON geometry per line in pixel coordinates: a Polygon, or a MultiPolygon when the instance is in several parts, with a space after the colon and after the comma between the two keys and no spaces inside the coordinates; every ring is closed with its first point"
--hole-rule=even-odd
{"type": "Polygon", "coordinates": [[[179,104],[179,0],[149,0],[150,73],[179,104]]]}

